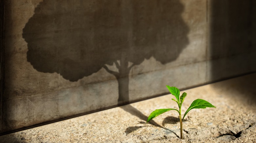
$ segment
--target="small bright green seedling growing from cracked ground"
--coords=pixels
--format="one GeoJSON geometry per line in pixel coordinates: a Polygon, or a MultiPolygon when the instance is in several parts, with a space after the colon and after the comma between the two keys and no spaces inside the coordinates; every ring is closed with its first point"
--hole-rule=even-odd
{"type": "Polygon", "coordinates": [[[175,99],[172,99],[172,100],[175,101],[175,102],[178,104],[179,110],[173,109],[173,108],[169,108],[169,109],[156,109],[155,111],[153,111],[153,112],[149,115],[149,117],[148,117],[148,119],[147,119],[147,123],[148,123],[151,119],[153,119],[153,118],[155,118],[155,117],[157,117],[157,116],[163,114],[164,112],[167,112],[167,111],[170,111],[170,110],[176,110],[176,111],[179,113],[179,115],[180,115],[181,139],[183,139],[183,135],[182,135],[182,122],[183,122],[185,116],[187,115],[187,113],[188,113],[191,109],[199,109],[199,108],[202,108],[202,109],[203,109],[203,108],[206,108],[206,107],[214,107],[214,108],[216,108],[216,107],[213,106],[211,103],[209,103],[209,102],[203,100],[203,99],[194,100],[194,101],[191,103],[191,105],[188,107],[188,109],[187,109],[187,111],[185,112],[185,114],[183,115],[183,118],[181,119],[181,105],[182,105],[182,103],[183,103],[185,97],[187,96],[187,93],[186,93],[186,92],[183,92],[182,95],[181,95],[181,97],[180,97],[180,90],[179,90],[177,87],[170,87],[170,86],[166,86],[166,87],[169,89],[170,93],[176,97],[177,100],[175,100],[175,99]]]}

